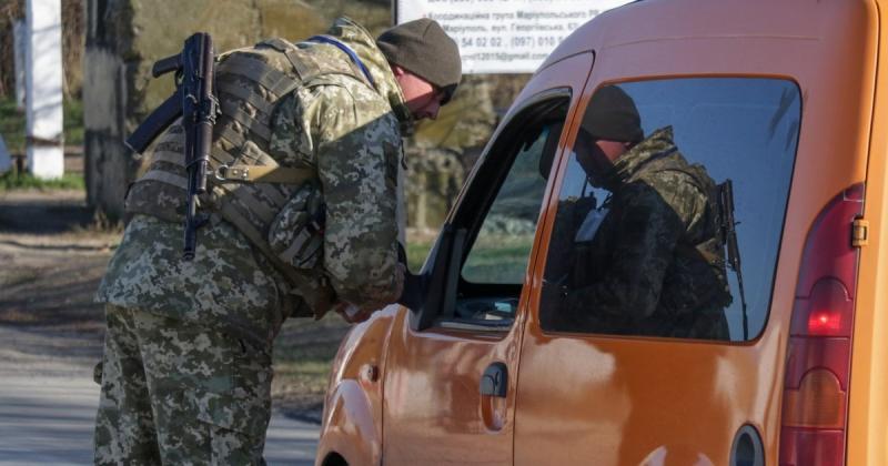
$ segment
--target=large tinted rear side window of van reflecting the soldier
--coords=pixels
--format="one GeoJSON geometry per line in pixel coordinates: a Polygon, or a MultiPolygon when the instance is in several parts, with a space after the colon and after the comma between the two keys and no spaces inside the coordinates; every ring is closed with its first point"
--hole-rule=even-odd
{"type": "Polygon", "coordinates": [[[604,103],[587,105],[568,152],[539,303],[543,328],[755,338],[768,316],[795,163],[798,87],[683,78],[607,88],[596,93],[609,97],[591,100],[604,103]],[[632,105],[642,142],[608,162],[601,134],[632,133],[632,105]],[[745,315],[719,227],[727,180],[745,315]]]}

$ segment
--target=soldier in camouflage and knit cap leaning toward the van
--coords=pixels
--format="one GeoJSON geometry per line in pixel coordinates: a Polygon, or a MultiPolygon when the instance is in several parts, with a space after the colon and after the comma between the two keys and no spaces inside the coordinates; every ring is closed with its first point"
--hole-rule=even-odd
{"type": "Polygon", "coordinates": [[[95,464],[264,463],[274,336],[289,316],[350,308],[360,321],[402,294],[401,126],[435,118],[460,77],[455,42],[431,20],[374,40],[339,19],[306,42],[220,58],[220,178],[200,199],[195,257],[181,259],[176,122],[128,193],[134,215],[97,294],[95,464]],[[281,179],[230,182],[239,164],[281,179]]]}

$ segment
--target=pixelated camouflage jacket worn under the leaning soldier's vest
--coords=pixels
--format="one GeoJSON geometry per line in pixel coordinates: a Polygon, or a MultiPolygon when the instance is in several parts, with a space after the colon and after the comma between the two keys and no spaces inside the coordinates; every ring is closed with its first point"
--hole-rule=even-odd
{"type": "MultiPolygon", "coordinates": [[[[307,164],[319,175],[326,224],[323,267],[337,296],[364,310],[394,302],[403,205],[400,125],[410,123],[395,78],[370,33],[347,19],[327,36],[354,50],[375,89],[347,75],[302,87],[274,111],[271,155],[282,165],[307,164]]],[[[339,48],[314,43],[330,60],[339,48]]],[[[235,227],[215,220],[201,227],[193,262],[181,261],[182,226],[137,215],[109,263],[97,300],[224,326],[268,343],[293,311],[287,281],[235,227]]]]}

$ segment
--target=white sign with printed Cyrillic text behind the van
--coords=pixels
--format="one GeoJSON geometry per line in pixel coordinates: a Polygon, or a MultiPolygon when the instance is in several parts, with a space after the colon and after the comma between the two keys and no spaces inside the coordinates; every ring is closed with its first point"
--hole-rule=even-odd
{"type": "Polygon", "coordinates": [[[532,73],[583,23],[628,0],[395,0],[396,22],[440,22],[463,73],[532,73]]]}

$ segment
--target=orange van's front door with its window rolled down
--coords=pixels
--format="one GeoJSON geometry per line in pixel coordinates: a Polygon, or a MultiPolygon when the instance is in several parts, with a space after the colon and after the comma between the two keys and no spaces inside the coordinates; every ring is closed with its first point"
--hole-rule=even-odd
{"type": "Polygon", "coordinates": [[[521,336],[549,168],[592,67],[581,53],[535,75],[457,200],[426,267],[433,295],[402,308],[385,362],[391,465],[512,464],[521,336]]]}

